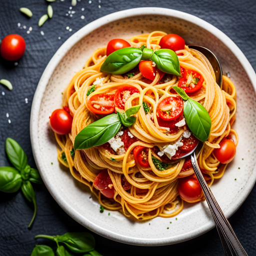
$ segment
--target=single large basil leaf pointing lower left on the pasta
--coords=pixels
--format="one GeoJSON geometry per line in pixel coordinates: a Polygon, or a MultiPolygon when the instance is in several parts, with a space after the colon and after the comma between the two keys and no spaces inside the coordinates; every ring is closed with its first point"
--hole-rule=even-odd
{"type": "Polygon", "coordinates": [[[74,139],[74,149],[99,146],[112,138],[120,129],[117,114],[109,114],[83,128],[74,139]]]}

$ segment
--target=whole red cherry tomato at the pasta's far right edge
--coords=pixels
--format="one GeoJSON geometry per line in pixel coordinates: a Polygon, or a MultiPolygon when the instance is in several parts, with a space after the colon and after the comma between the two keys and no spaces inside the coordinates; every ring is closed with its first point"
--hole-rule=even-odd
{"type": "Polygon", "coordinates": [[[235,156],[235,144],[231,139],[223,138],[220,143],[220,148],[214,149],[214,155],[221,163],[229,163],[235,156]]]}

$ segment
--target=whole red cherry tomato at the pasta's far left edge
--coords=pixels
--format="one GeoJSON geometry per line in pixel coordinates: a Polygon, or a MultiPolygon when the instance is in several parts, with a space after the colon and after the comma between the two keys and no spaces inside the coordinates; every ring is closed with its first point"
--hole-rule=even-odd
{"type": "Polygon", "coordinates": [[[50,116],[50,126],[57,134],[67,134],[71,131],[73,117],[64,109],[55,109],[50,116]]]}

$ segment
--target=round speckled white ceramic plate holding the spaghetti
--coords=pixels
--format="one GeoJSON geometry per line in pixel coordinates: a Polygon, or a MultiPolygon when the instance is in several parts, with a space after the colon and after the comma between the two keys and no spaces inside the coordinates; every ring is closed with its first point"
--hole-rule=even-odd
{"type": "Polygon", "coordinates": [[[135,8],[99,18],[68,38],[45,68],[37,86],[31,111],[33,155],[43,181],[57,203],[77,222],[116,241],[137,245],[164,245],[198,236],[214,226],[206,202],[185,205],[174,218],[136,222],[119,212],[99,212],[99,203],[57,161],[48,116],[61,106],[61,91],[98,47],[116,37],[162,30],[181,35],[186,43],[211,49],[229,71],[237,88],[234,128],[239,134],[235,159],[211,189],[227,217],[242,204],[256,179],[255,92],[256,75],[239,48],[216,27],[193,15],[165,8],[135,8]],[[142,22],[141,22],[142,21],[142,22]],[[51,164],[52,163],[52,164],[51,164]],[[236,180],[235,180],[236,178],[236,180]],[[171,221],[171,224],[170,224],[171,221]],[[149,225],[150,223],[150,225],[149,225]],[[167,229],[167,227],[169,227],[167,229]]]}

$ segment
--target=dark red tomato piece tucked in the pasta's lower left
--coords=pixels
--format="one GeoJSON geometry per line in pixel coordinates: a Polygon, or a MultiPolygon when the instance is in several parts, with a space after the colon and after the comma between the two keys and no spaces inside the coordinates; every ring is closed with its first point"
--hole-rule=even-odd
{"type": "Polygon", "coordinates": [[[100,190],[100,193],[102,193],[105,197],[114,197],[115,189],[107,170],[102,170],[97,174],[93,181],[93,186],[100,190]]]}

